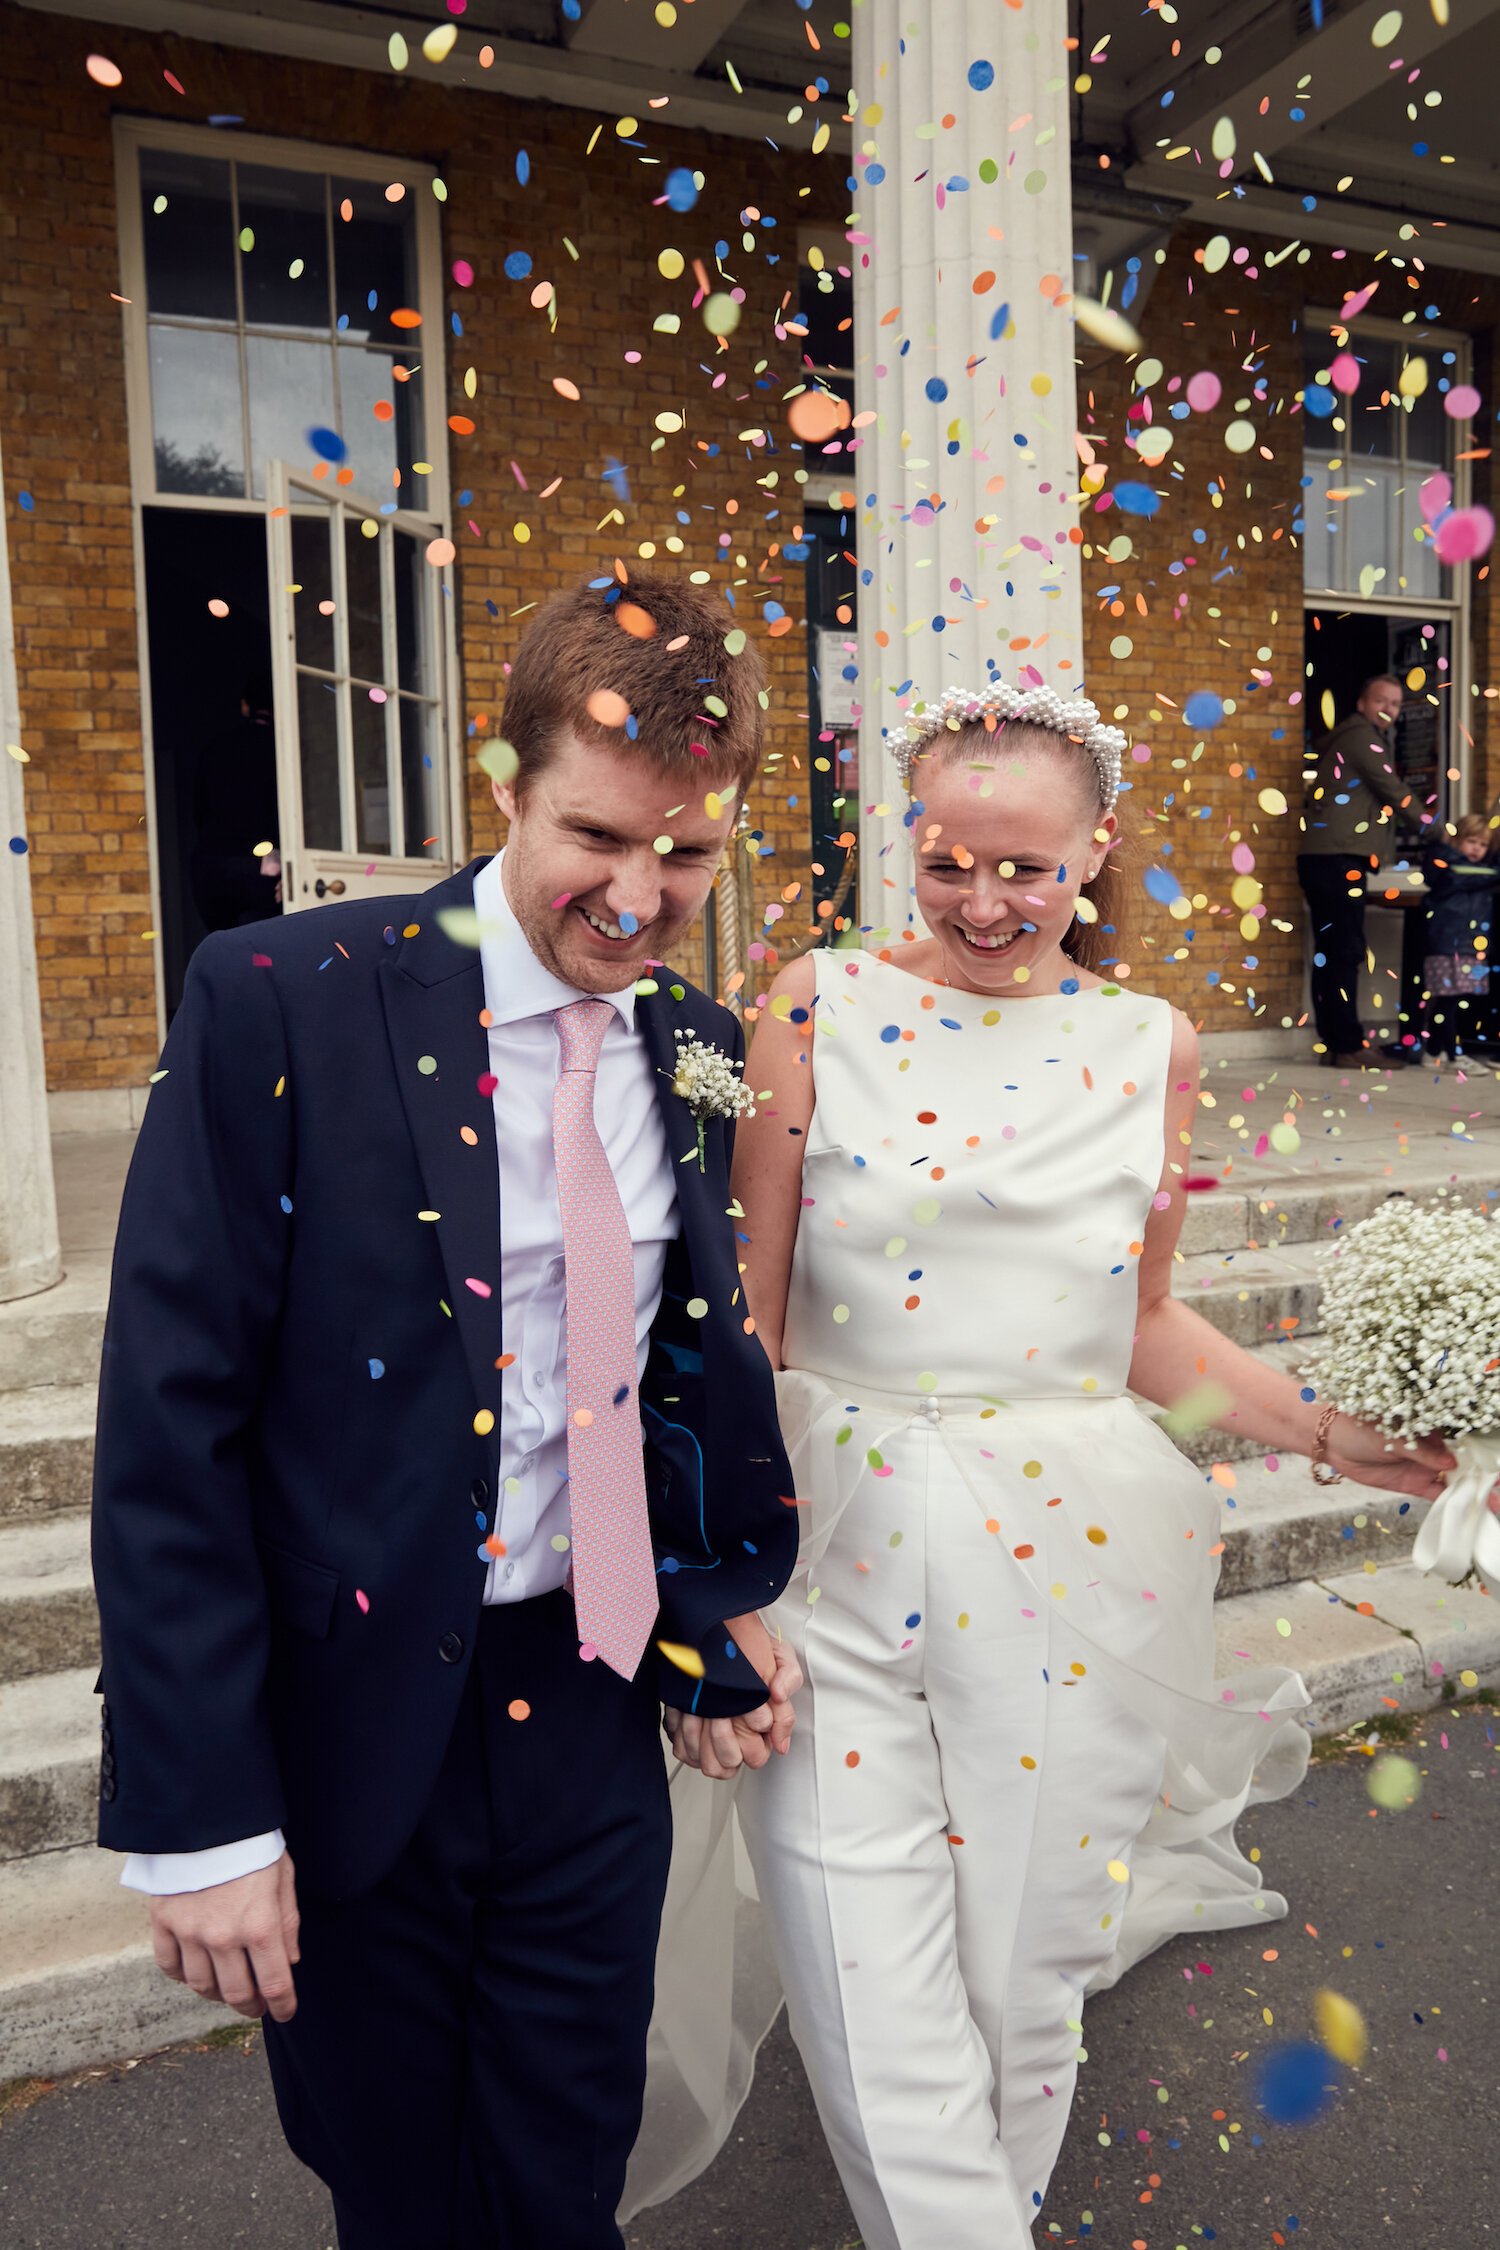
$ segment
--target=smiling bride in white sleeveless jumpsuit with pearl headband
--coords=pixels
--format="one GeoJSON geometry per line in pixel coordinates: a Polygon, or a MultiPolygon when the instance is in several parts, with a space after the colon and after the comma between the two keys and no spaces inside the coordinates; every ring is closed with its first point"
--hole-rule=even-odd
{"type": "Polygon", "coordinates": [[[794,961],[747,1066],[744,1287],[803,1519],[767,1618],[805,1692],[738,1816],[868,2250],[1028,2246],[1084,1991],[1286,1912],[1232,1827],[1298,1784],[1307,1694],[1214,1681],[1219,1510],[1127,1386],[1421,1498],[1451,1460],[1172,1296],[1199,1055],[1104,974],[1122,745],[1082,698],[949,691],[900,745],[931,936],[794,961]]]}

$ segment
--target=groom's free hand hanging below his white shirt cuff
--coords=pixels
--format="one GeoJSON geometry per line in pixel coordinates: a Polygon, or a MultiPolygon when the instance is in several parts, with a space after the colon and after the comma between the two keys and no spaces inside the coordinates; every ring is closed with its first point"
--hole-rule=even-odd
{"type": "Polygon", "coordinates": [[[205,2000],[223,2000],[241,2016],[270,2014],[290,2023],[297,2014],[292,1962],[301,1960],[290,1852],[274,1868],[232,1883],[153,1899],[151,1946],[157,1969],[205,2000]]]}

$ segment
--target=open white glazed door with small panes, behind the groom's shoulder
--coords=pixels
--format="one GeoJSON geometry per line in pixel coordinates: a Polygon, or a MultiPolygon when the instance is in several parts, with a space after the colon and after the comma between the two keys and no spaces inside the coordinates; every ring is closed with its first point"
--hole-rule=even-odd
{"type": "Polygon", "coordinates": [[[461,850],[443,526],[286,461],[265,493],[283,909],[421,891],[461,850]]]}

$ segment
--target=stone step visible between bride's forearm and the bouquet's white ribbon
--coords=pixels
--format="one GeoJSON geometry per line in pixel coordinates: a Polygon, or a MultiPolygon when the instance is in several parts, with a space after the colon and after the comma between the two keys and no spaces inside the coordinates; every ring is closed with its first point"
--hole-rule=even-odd
{"type": "Polygon", "coordinates": [[[1428,1510],[1401,1492],[1320,1485],[1295,1454],[1275,1469],[1264,1456],[1221,1462],[1214,1485],[1223,1501],[1221,1602],[1356,1564],[1403,1562],[1428,1510]]]}

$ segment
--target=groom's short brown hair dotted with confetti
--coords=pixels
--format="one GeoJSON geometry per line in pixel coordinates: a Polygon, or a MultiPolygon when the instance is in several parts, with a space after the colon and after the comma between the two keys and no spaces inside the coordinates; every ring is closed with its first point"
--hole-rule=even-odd
{"type": "Polygon", "coordinates": [[[517,758],[515,794],[564,734],[636,752],[686,785],[744,790],[767,700],[760,650],[706,587],[666,572],[569,587],[531,619],[510,670],[501,731],[517,758]],[[607,698],[623,706],[618,724],[607,698]]]}

